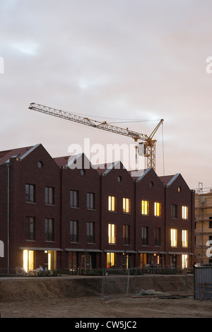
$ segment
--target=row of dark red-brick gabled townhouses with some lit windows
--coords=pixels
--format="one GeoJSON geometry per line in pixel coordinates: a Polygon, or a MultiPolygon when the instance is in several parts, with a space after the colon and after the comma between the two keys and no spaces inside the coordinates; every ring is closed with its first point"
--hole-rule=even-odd
{"type": "Polygon", "coordinates": [[[181,174],[52,158],[37,144],[0,152],[0,186],[0,271],[192,266],[194,191],[181,174]]]}

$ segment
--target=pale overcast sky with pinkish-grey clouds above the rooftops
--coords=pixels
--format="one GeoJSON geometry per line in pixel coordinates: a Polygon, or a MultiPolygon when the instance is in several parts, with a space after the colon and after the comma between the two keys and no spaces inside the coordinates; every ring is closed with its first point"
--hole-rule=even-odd
{"type": "Polygon", "coordinates": [[[212,187],[211,13],[211,0],[1,0],[0,150],[42,143],[59,157],[84,138],[134,144],[30,102],[147,135],[163,118],[157,174],[212,187]]]}

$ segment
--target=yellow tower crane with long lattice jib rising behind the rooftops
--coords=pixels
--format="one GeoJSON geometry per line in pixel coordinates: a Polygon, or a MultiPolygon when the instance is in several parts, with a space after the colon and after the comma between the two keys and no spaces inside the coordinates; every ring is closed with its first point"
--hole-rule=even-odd
{"type": "Polygon", "coordinates": [[[54,117],[60,117],[61,119],[66,119],[69,121],[77,122],[78,124],[85,124],[86,126],[92,126],[96,129],[102,129],[105,131],[110,131],[114,134],[128,136],[134,139],[136,143],[136,155],[137,150],[139,155],[143,155],[147,158],[147,167],[153,168],[155,170],[155,143],[156,140],[153,139],[156,131],[160,127],[160,124],[163,124],[163,119],[160,120],[158,125],[155,127],[151,135],[141,134],[136,131],[131,131],[128,128],[124,129],[119,126],[114,126],[112,124],[108,124],[107,121],[97,121],[93,119],[89,119],[88,117],[81,117],[77,114],[71,114],[65,112],[61,109],[55,109],[52,107],[48,107],[45,105],[35,104],[35,102],[31,102],[29,109],[33,109],[37,112],[42,112],[45,114],[53,115],[54,117]],[[139,142],[141,141],[141,142],[139,142]],[[139,145],[138,145],[139,142],[139,145]]]}

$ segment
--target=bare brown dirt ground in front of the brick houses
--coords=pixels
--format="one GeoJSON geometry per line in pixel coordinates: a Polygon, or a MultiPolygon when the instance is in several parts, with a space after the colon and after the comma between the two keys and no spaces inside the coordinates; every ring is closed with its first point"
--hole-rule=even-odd
{"type": "MultiPolygon", "coordinates": [[[[177,277],[177,276],[176,276],[177,277]]],[[[125,280],[109,280],[102,297],[101,277],[0,278],[1,318],[211,318],[212,302],[194,300],[192,278],[139,278],[136,290],[181,294],[175,298],[134,297],[134,280],[126,297],[125,280]],[[154,286],[154,287],[153,287],[154,286]],[[106,295],[107,291],[107,295],[106,295]]]]}

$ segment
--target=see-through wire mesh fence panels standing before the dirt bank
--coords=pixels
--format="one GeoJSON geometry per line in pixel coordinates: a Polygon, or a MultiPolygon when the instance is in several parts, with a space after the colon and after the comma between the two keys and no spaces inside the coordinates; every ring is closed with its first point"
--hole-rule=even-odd
{"type": "MultiPolygon", "coordinates": [[[[162,272],[162,271],[160,271],[162,272]]],[[[102,297],[127,296],[193,296],[193,275],[163,268],[163,273],[144,274],[141,268],[122,270],[105,268],[102,275],[102,297]]]]}

